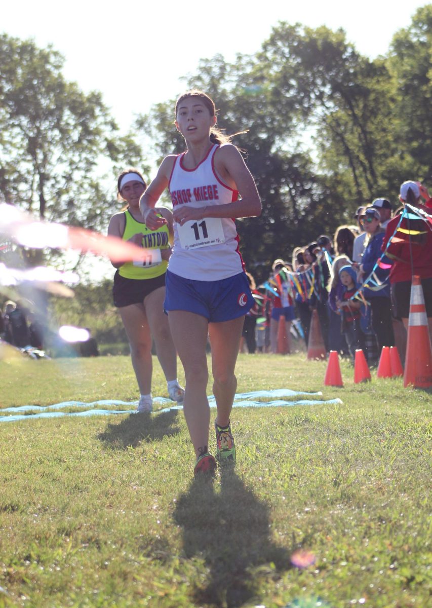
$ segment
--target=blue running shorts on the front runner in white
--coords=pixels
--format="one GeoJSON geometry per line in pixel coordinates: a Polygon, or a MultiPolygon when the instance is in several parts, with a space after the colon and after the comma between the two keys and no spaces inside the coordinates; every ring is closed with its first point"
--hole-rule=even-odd
{"type": "Polygon", "coordinates": [[[220,281],[196,281],[170,271],[165,277],[166,313],[184,310],[221,323],[242,317],[255,303],[244,272],[220,281]]]}

